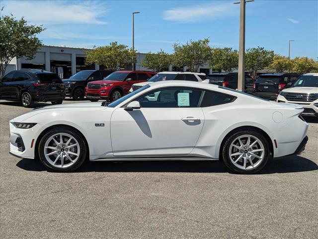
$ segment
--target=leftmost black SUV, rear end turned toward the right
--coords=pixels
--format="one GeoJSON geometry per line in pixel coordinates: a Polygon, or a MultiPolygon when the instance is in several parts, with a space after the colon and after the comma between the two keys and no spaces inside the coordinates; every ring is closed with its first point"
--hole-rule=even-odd
{"type": "Polygon", "coordinates": [[[55,73],[22,69],[11,71],[0,80],[0,99],[19,101],[24,107],[33,102],[62,104],[65,98],[65,84],[55,73]]]}

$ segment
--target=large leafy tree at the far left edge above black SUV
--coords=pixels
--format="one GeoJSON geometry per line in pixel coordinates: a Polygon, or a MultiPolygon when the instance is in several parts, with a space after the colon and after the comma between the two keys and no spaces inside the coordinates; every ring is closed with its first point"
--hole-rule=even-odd
{"type": "Polygon", "coordinates": [[[42,25],[28,25],[23,17],[17,20],[12,14],[0,16],[0,77],[14,57],[34,58],[42,46],[36,34],[43,30],[42,25]]]}

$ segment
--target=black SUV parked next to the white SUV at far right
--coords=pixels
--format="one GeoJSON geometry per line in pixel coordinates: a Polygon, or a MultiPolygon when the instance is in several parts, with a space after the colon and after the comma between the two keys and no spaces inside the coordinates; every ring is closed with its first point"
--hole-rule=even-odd
{"type": "Polygon", "coordinates": [[[275,101],[279,92],[289,88],[299,78],[297,73],[268,73],[260,75],[253,85],[253,95],[275,101]]]}

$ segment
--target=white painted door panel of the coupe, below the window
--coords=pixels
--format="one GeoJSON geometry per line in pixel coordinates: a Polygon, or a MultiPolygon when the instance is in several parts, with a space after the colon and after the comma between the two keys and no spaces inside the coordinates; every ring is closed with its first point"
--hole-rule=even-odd
{"type": "Polygon", "coordinates": [[[111,118],[111,141],[115,156],[184,155],[195,146],[204,116],[201,108],[119,108],[111,118]],[[183,118],[199,118],[191,122],[183,118]],[[182,120],[183,119],[183,120],[182,120]]]}

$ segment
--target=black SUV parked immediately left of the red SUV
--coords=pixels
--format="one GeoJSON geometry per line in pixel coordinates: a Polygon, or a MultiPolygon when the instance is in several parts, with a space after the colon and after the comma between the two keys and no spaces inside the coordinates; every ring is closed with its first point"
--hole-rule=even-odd
{"type": "Polygon", "coordinates": [[[71,76],[69,79],[63,79],[65,83],[66,96],[75,101],[81,101],[85,96],[85,87],[90,81],[104,79],[112,71],[103,70],[83,70],[71,76]]]}

